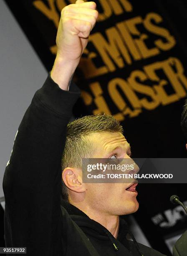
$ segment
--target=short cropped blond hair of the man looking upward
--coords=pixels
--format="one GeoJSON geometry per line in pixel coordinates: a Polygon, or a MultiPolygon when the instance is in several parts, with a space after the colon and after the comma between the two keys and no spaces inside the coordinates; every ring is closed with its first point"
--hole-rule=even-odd
{"type": "MultiPolygon", "coordinates": [[[[62,156],[62,171],[66,167],[81,168],[83,158],[91,158],[95,147],[86,138],[91,133],[120,132],[123,127],[112,115],[87,115],[67,125],[66,144],[62,156]]],[[[62,182],[62,198],[68,200],[67,187],[62,182]]]]}

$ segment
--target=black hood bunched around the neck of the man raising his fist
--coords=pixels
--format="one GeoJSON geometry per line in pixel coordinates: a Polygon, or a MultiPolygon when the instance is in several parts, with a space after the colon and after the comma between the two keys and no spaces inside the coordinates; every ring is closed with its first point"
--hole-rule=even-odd
{"type": "MultiPolygon", "coordinates": [[[[104,243],[112,243],[114,251],[118,251],[119,248],[116,246],[116,238],[107,230],[103,225],[90,219],[84,212],[79,210],[77,207],[71,205],[65,200],[61,200],[61,205],[66,209],[72,220],[83,230],[87,236],[93,237],[95,240],[104,243]]],[[[139,251],[139,246],[134,236],[129,231],[128,225],[123,218],[119,218],[119,233],[117,240],[120,241],[127,249],[129,249],[129,242],[126,239],[129,234],[134,242],[138,256],[142,256],[139,251]]]]}

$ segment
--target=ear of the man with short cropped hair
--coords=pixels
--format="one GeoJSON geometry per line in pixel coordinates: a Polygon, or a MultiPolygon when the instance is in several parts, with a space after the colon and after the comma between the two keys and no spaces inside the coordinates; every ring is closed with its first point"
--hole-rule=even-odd
{"type": "Polygon", "coordinates": [[[81,193],[84,192],[84,185],[82,182],[82,171],[75,168],[67,167],[62,172],[62,179],[68,189],[81,193]]]}

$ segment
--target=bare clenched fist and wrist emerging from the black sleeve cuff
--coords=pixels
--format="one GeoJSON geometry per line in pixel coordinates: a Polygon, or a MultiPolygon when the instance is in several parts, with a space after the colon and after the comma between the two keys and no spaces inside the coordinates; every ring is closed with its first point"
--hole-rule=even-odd
{"type": "Polygon", "coordinates": [[[68,90],[97,17],[96,3],[83,0],[67,5],[61,12],[56,36],[57,55],[51,78],[63,90],[68,90]]]}

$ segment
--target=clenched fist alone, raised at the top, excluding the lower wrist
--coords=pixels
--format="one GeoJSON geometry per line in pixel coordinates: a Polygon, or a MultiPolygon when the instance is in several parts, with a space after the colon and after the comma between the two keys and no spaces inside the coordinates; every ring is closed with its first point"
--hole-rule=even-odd
{"type": "Polygon", "coordinates": [[[94,2],[77,0],[63,8],[56,37],[57,55],[79,61],[97,17],[94,2]]]}

